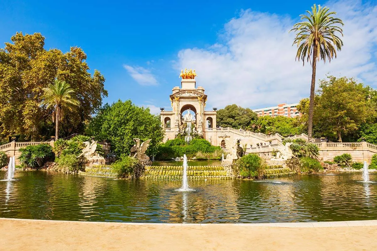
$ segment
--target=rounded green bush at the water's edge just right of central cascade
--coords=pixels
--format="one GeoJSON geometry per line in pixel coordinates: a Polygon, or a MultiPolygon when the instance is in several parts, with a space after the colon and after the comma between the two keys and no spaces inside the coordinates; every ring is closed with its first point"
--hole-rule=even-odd
{"type": "Polygon", "coordinates": [[[233,166],[242,178],[261,178],[266,168],[266,164],[257,154],[244,155],[233,166]]]}

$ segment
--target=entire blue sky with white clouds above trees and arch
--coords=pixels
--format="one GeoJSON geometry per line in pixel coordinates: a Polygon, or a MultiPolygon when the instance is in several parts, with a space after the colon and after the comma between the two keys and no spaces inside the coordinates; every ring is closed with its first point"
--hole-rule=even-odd
{"type": "MultiPolygon", "coordinates": [[[[326,73],[377,87],[376,1],[331,1],[345,21],[345,47],[326,73]],[[363,39],[360,39],[363,38],[363,39]]],[[[170,108],[179,69],[195,68],[207,107],[259,108],[308,96],[310,66],[295,62],[288,30],[311,1],[0,2],[0,42],[40,32],[46,49],[79,46],[106,78],[104,102],[170,108]]],[[[3,44],[2,46],[3,47],[3,44]]]]}

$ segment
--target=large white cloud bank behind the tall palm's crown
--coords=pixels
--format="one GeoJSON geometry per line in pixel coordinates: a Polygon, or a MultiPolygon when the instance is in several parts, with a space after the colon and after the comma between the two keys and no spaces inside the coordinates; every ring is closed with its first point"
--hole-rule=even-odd
{"type": "MultiPolygon", "coordinates": [[[[376,85],[377,8],[361,1],[329,2],[345,23],[344,46],[329,64],[317,63],[317,79],[327,73],[354,76],[376,85]]],[[[305,10],[303,10],[304,12],[305,10]]],[[[195,68],[197,85],[208,95],[208,107],[237,103],[259,108],[277,103],[296,103],[309,96],[311,66],[295,61],[294,34],[297,20],[287,16],[243,11],[224,26],[219,42],[204,49],[184,49],[175,67],[195,68]]]]}

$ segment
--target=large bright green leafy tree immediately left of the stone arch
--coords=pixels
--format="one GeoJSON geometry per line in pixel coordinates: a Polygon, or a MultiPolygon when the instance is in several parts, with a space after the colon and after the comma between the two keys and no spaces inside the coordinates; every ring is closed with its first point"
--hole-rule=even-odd
{"type": "Polygon", "coordinates": [[[109,140],[118,157],[129,154],[133,138],[152,139],[146,154],[155,155],[164,136],[159,116],[150,114],[149,108],[132,104],[131,100],[104,105],[87,126],[86,134],[99,141],[109,140]]]}

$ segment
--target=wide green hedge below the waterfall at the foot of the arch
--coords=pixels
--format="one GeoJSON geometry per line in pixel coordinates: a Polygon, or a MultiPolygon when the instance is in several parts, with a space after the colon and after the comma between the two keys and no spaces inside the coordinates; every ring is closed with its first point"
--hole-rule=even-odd
{"type": "Polygon", "coordinates": [[[181,138],[168,140],[160,144],[158,148],[157,160],[169,160],[176,157],[182,157],[186,154],[187,158],[197,158],[220,160],[222,150],[219,146],[212,146],[203,138],[195,138],[190,143],[186,143],[181,138]],[[198,153],[201,152],[199,155],[198,153]]]}

